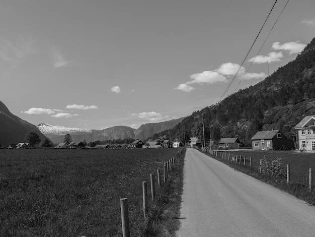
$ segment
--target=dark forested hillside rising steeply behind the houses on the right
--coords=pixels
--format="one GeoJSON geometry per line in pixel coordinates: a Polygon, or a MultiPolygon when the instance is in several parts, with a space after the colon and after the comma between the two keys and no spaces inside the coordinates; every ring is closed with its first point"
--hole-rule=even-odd
{"type": "Polygon", "coordinates": [[[315,38],[294,61],[279,68],[264,81],[240,90],[217,104],[193,112],[174,129],[155,134],[153,138],[171,134],[183,140],[195,136],[211,138],[239,137],[245,144],[258,131],[280,129],[295,140],[294,126],[306,115],[315,114],[315,38]]]}

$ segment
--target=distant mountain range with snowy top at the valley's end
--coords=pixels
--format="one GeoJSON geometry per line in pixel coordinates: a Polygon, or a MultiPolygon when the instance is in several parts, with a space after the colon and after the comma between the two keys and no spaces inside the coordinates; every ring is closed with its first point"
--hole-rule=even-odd
{"type": "Polygon", "coordinates": [[[65,128],[60,126],[51,126],[48,124],[39,124],[37,128],[45,134],[52,142],[60,143],[63,141],[65,134],[70,134],[72,141],[105,141],[105,140],[117,140],[117,139],[140,139],[146,140],[154,133],[160,133],[161,131],[173,128],[176,124],[181,122],[183,118],[177,120],[170,120],[161,123],[151,123],[141,125],[138,129],[133,129],[127,126],[115,126],[103,130],[90,130],[90,129],[78,129],[78,128],[65,128]]]}

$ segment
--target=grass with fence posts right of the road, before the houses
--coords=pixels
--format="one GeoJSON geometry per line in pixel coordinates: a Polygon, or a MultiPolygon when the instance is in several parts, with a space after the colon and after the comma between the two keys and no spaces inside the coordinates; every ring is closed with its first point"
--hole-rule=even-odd
{"type": "MultiPolygon", "coordinates": [[[[224,151],[220,151],[223,152],[224,151]]],[[[315,153],[309,152],[298,152],[298,151],[226,151],[226,159],[223,156],[210,155],[209,153],[203,152],[229,166],[234,168],[235,170],[244,172],[248,175],[255,177],[258,180],[261,180],[265,183],[268,183],[278,189],[281,189],[295,197],[304,200],[305,202],[315,205],[315,192],[314,192],[314,183],[312,185],[312,192],[309,192],[308,187],[308,174],[309,168],[315,168],[315,153]],[[244,165],[243,160],[242,163],[235,163],[228,161],[228,153],[231,157],[234,155],[242,155],[242,157],[246,156],[248,161],[247,164],[244,165]],[[222,158],[223,157],[223,158],[222,158]],[[249,159],[252,157],[253,169],[250,168],[249,159]],[[290,164],[290,183],[286,183],[286,177],[275,178],[268,175],[263,175],[259,173],[259,164],[260,159],[266,158],[267,161],[276,160],[277,158],[281,158],[281,165],[283,166],[284,172],[286,172],[286,164],[290,164]]],[[[315,172],[313,172],[313,176],[315,172]]],[[[313,177],[314,179],[314,177],[313,177]]]]}

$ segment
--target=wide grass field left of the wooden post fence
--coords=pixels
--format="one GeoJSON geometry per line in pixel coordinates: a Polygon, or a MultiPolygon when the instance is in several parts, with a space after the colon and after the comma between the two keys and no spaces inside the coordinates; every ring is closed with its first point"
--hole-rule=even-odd
{"type": "Polygon", "coordinates": [[[120,198],[141,236],[142,182],[177,152],[0,150],[0,236],[121,236],[120,198]]]}

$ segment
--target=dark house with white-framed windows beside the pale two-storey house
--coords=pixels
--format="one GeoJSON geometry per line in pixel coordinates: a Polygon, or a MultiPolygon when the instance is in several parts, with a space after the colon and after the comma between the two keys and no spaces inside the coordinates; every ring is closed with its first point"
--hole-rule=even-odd
{"type": "Polygon", "coordinates": [[[286,138],[280,130],[257,132],[252,137],[253,150],[293,150],[294,142],[286,138]]]}

